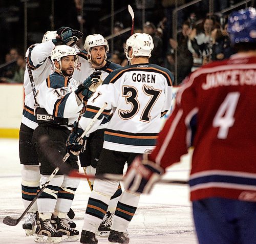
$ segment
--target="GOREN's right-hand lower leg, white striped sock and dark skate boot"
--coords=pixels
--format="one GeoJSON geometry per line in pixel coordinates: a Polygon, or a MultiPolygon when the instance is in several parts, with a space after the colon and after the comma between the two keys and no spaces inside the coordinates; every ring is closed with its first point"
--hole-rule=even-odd
{"type": "Polygon", "coordinates": [[[121,194],[113,216],[113,223],[109,235],[110,242],[129,243],[126,229],[135,214],[139,199],[140,195],[127,191],[121,194]]]}

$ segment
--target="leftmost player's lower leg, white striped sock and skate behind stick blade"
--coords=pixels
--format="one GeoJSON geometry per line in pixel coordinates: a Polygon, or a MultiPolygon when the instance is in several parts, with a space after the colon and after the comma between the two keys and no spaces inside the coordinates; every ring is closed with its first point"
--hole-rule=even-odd
{"type": "MultiPolygon", "coordinates": [[[[36,196],[39,187],[40,173],[37,165],[22,165],[22,198],[25,209],[36,196]]],[[[25,217],[23,229],[26,235],[33,235],[36,229],[37,204],[33,204],[25,217]]]]}

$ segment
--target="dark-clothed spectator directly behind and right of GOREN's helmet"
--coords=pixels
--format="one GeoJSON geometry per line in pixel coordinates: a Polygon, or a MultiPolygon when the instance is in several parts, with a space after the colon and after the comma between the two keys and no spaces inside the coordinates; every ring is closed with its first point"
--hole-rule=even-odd
{"type": "Polygon", "coordinates": [[[146,23],[143,26],[143,32],[151,35],[153,38],[154,49],[151,52],[150,62],[162,66],[163,65],[163,57],[162,57],[163,42],[162,42],[162,38],[156,34],[155,25],[150,21],[146,21],[146,23]]]}

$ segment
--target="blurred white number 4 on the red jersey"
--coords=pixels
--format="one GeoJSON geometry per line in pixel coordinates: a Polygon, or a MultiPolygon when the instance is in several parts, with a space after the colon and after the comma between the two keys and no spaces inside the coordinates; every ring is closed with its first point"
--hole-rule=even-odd
{"type": "Polygon", "coordinates": [[[219,139],[226,139],[229,128],[234,124],[234,112],[236,111],[239,97],[239,92],[228,93],[214,117],[212,125],[220,127],[217,134],[219,139]]]}

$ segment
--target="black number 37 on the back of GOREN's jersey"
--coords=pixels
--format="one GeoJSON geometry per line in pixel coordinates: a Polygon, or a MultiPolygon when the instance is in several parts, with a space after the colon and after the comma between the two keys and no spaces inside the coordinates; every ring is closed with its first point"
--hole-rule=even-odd
{"type": "MultiPolygon", "coordinates": [[[[149,122],[151,120],[151,117],[150,117],[151,109],[156,103],[156,100],[158,99],[162,90],[156,90],[152,86],[148,86],[148,85],[143,85],[142,90],[145,95],[150,97],[150,100],[144,107],[140,120],[149,122]]],[[[122,119],[124,120],[131,119],[139,112],[140,106],[139,106],[139,100],[137,99],[138,94],[139,92],[134,86],[123,86],[122,96],[125,97],[127,104],[130,103],[132,105],[132,108],[130,110],[119,109],[118,113],[122,119]]]]}

